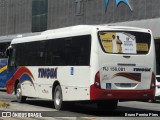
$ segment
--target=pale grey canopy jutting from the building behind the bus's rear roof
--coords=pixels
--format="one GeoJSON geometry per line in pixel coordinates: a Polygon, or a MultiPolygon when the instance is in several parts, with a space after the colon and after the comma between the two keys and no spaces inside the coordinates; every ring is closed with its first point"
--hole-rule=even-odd
{"type": "Polygon", "coordinates": [[[154,39],[160,38],[160,18],[111,23],[111,25],[131,26],[131,27],[151,29],[154,39]]]}

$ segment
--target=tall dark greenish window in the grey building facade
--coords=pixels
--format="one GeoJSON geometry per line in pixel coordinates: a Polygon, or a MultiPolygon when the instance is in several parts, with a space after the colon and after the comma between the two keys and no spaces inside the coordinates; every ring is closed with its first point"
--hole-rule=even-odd
{"type": "Polygon", "coordinates": [[[32,32],[47,29],[48,0],[32,0],[32,32]]]}

